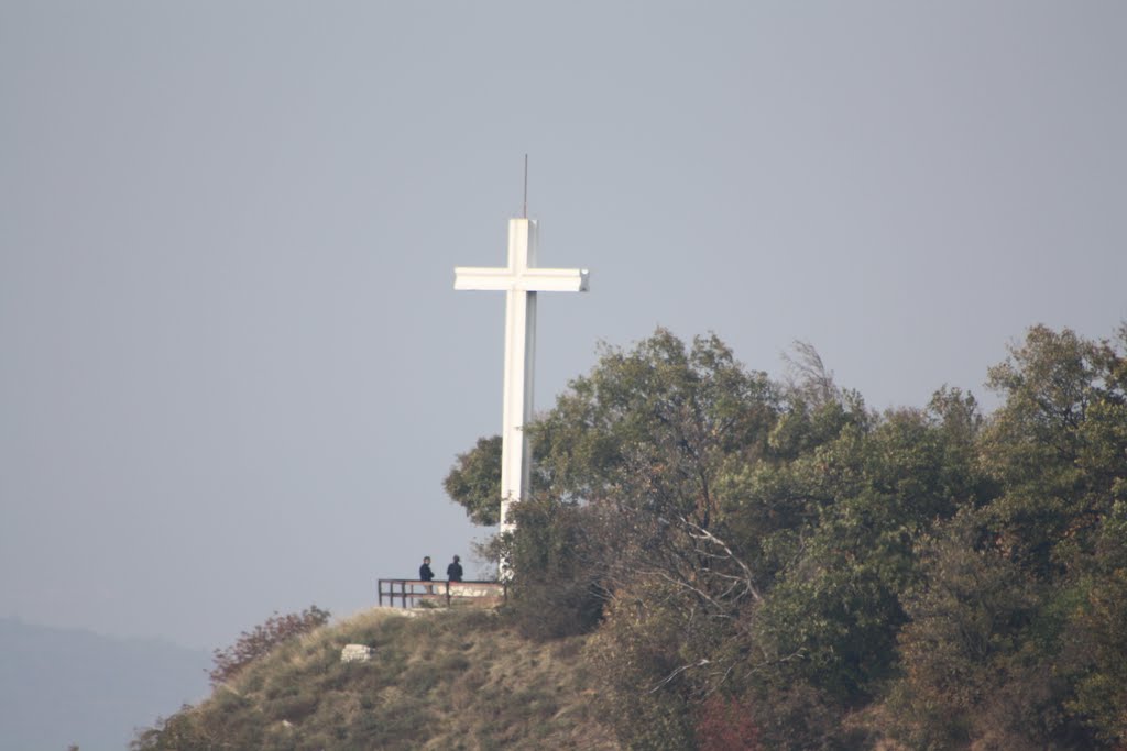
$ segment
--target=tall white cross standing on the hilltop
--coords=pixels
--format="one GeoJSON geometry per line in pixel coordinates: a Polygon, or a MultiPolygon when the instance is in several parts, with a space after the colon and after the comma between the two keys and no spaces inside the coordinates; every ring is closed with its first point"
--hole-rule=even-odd
{"type": "MultiPolygon", "coordinates": [[[[536,293],[587,292],[587,269],[538,269],[536,222],[508,221],[508,266],[454,269],[454,289],[505,292],[505,408],[500,450],[500,530],[514,528],[508,507],[527,498],[532,471],[524,424],[532,420],[536,293]]],[[[505,574],[504,564],[502,574],[505,574]]]]}

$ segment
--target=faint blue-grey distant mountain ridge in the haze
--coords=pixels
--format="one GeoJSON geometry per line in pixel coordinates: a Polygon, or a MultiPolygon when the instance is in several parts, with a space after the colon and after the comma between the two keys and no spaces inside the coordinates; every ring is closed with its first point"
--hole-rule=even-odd
{"type": "Polygon", "coordinates": [[[207,694],[211,655],[0,618],[0,749],[121,751],[137,727],[207,694]]]}

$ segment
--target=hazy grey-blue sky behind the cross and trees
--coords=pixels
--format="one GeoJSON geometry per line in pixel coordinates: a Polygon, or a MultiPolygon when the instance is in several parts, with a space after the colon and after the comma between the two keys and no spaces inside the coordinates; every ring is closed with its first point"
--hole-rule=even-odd
{"type": "MultiPolygon", "coordinates": [[[[879,409],[1127,318],[1127,5],[0,2],[0,616],[229,644],[485,530],[442,491],[600,340],[795,339],[879,409]]],[[[471,563],[468,573],[478,573],[471,563]]]]}

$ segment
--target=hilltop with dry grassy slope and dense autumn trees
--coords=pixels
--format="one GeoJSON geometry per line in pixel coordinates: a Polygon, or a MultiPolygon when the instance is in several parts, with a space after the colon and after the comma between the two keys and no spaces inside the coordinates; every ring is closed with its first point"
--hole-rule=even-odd
{"type": "MultiPolygon", "coordinates": [[[[988,415],[791,365],[607,348],[529,428],[499,614],[320,629],[137,748],[1127,746],[1127,327],[1031,329],[988,415]]],[[[446,479],[480,524],[498,462],[446,479]]]]}

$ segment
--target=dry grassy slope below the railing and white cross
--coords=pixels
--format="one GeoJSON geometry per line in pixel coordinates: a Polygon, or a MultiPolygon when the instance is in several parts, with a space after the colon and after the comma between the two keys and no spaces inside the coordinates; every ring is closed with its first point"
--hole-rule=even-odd
{"type": "Polygon", "coordinates": [[[582,637],[538,644],[482,611],[373,609],[278,647],[139,739],[161,749],[616,749],[582,637]],[[374,647],[343,663],[346,644],[374,647]]]}

